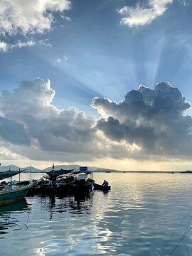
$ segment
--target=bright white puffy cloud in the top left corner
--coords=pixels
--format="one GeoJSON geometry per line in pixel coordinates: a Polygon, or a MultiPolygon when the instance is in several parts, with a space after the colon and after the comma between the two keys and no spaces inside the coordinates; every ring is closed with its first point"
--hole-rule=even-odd
{"type": "Polygon", "coordinates": [[[52,28],[54,13],[70,9],[69,0],[0,1],[0,35],[45,33],[52,28]]]}

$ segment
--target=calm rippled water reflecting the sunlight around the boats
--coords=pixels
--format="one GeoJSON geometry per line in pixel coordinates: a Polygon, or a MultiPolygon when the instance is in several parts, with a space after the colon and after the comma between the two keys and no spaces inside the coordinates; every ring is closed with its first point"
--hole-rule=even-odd
{"type": "Polygon", "coordinates": [[[192,255],[192,174],[94,174],[104,178],[109,193],[0,206],[0,255],[192,255]]]}

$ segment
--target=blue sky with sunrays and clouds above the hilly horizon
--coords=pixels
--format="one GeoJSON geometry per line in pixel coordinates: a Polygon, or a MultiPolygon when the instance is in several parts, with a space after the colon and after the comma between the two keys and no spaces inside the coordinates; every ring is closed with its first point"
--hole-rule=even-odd
{"type": "Polygon", "coordinates": [[[0,1],[1,165],[192,169],[192,0],[0,1]]]}

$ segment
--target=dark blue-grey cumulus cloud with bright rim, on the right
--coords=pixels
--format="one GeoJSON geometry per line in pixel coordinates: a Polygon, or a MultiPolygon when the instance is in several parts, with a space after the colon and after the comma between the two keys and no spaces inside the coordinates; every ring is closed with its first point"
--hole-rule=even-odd
{"type": "Polygon", "coordinates": [[[119,103],[96,97],[92,107],[102,114],[97,129],[119,144],[137,145],[135,158],[191,155],[192,119],[183,116],[191,105],[169,82],[160,82],[152,90],[140,86],[119,103]]]}

